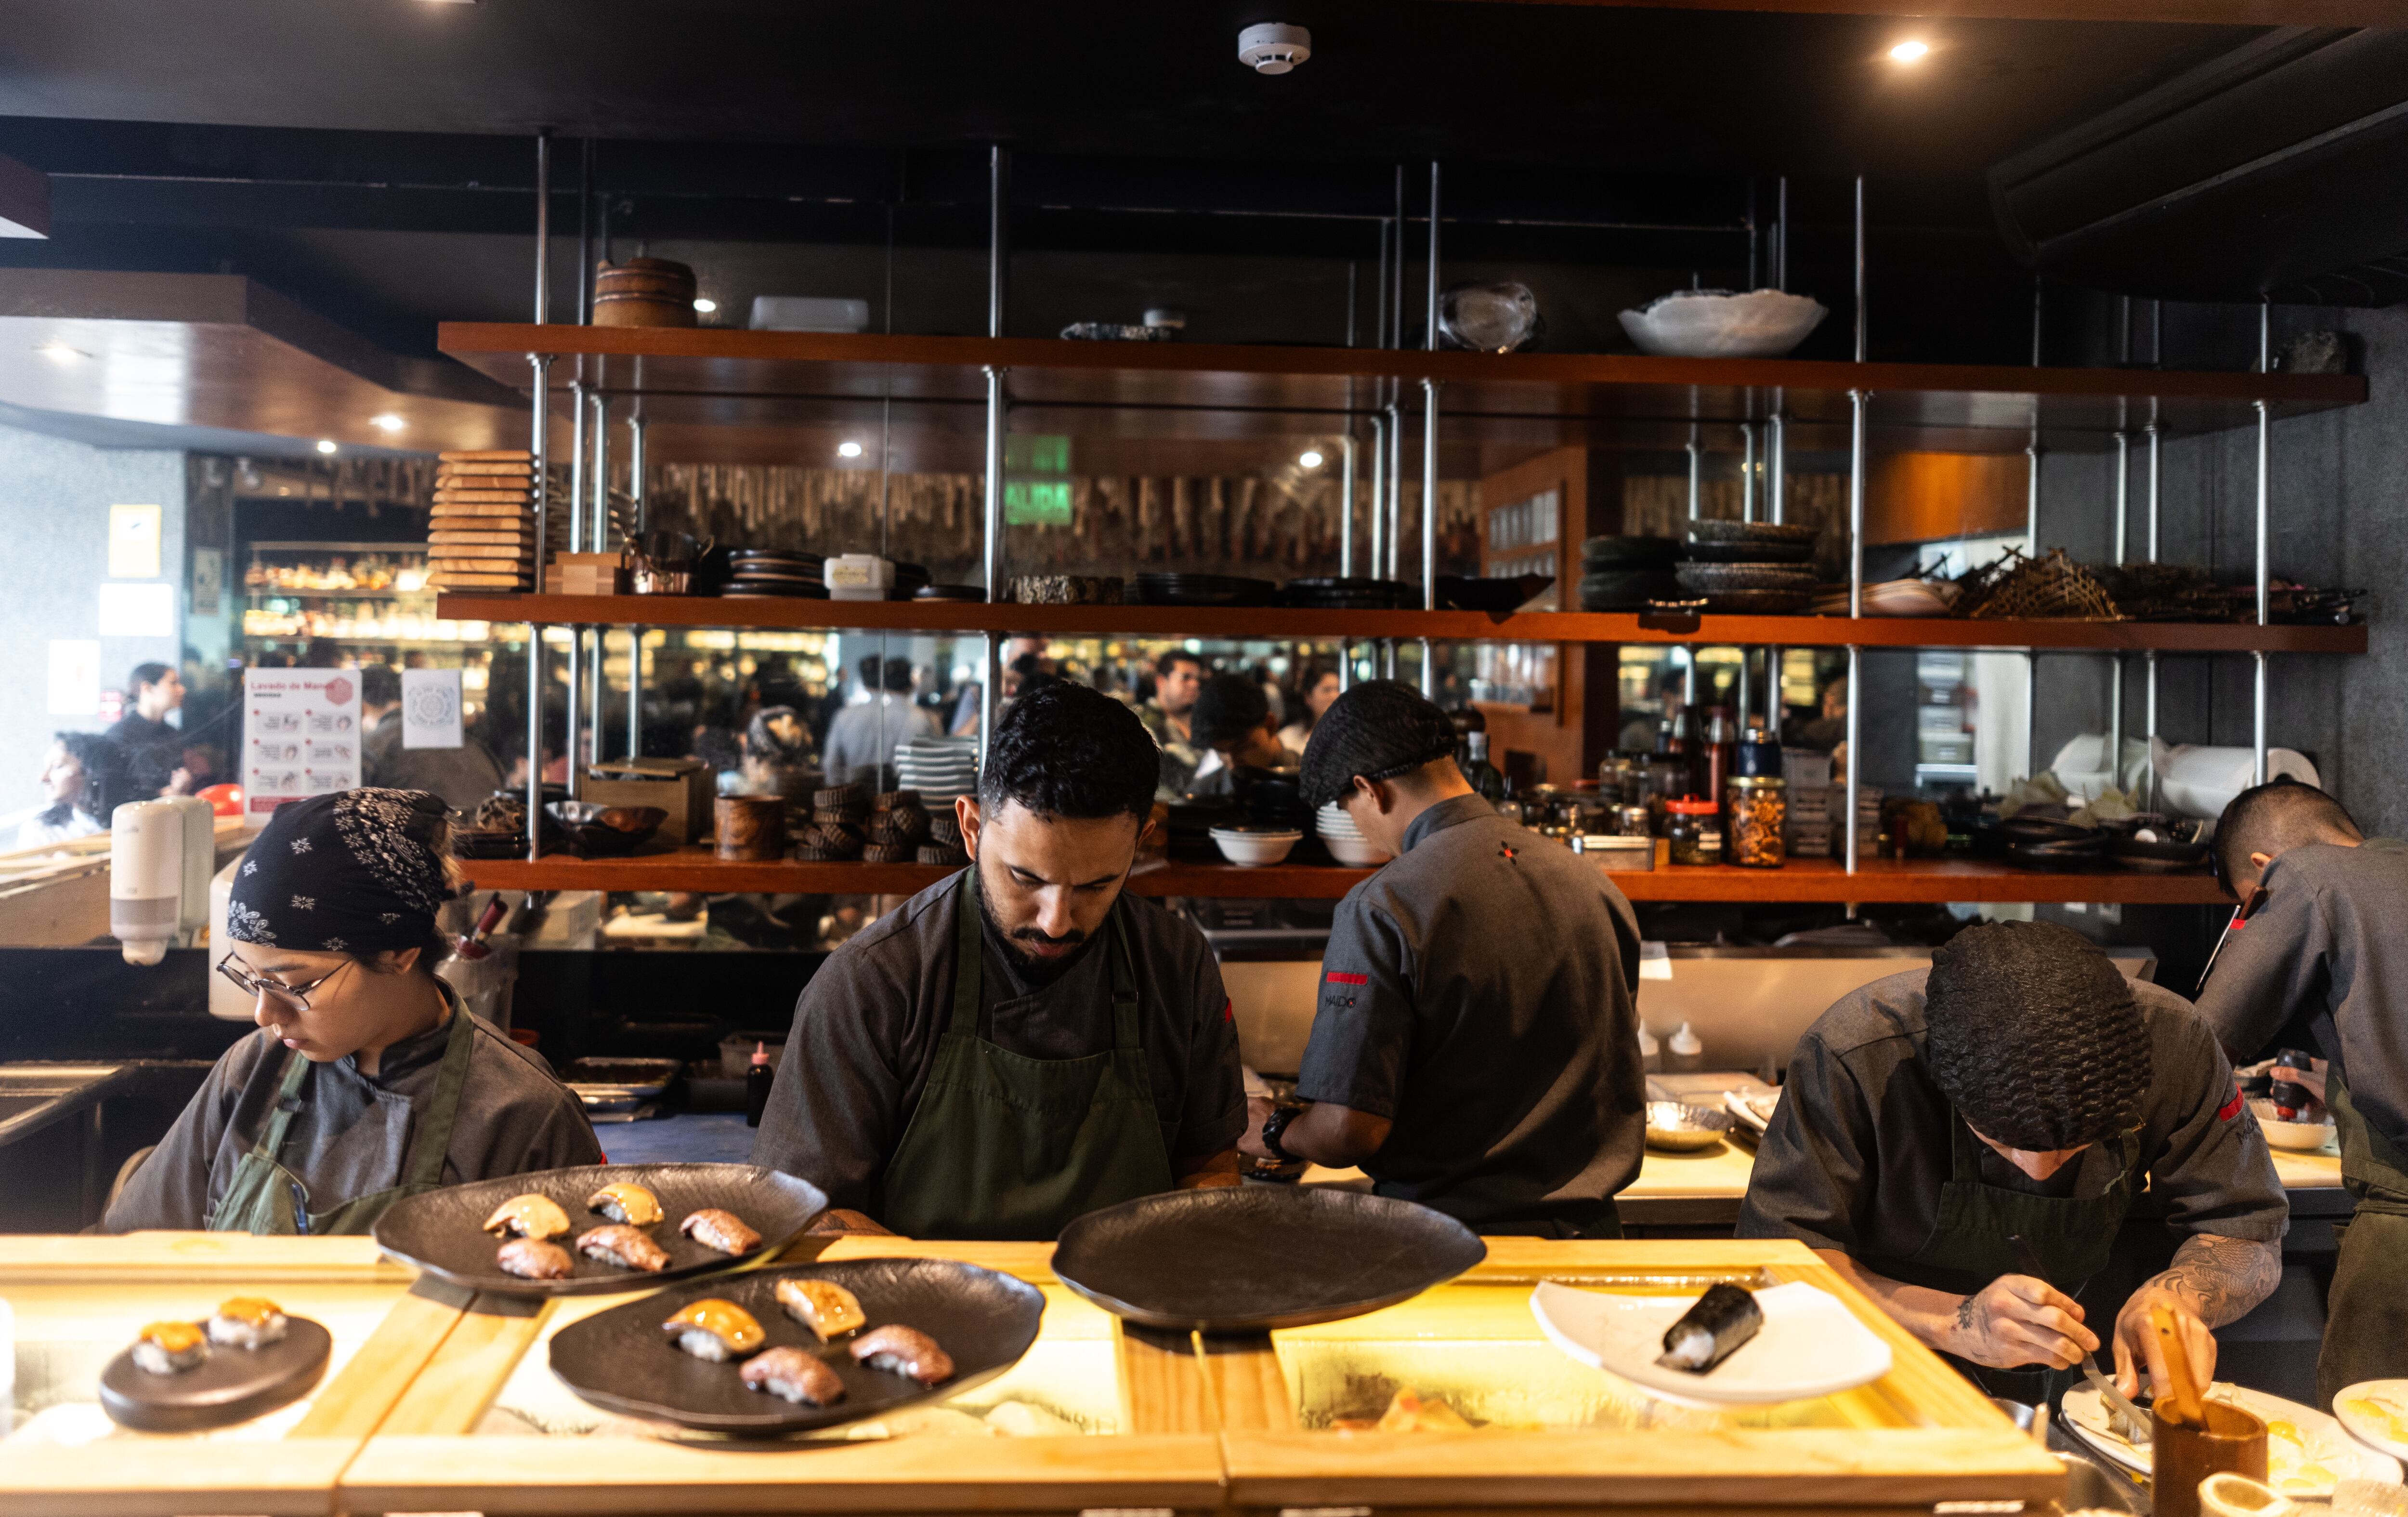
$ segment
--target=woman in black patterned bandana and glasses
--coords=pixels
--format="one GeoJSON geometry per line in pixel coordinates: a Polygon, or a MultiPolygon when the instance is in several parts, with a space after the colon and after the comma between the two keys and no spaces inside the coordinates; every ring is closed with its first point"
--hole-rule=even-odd
{"type": "Polygon", "coordinates": [[[260,1031],[217,1059],[104,1230],[366,1233],[405,1194],[602,1163],[578,1098],[436,978],[448,855],[443,799],[421,790],[267,821],[217,966],[260,1031]]]}

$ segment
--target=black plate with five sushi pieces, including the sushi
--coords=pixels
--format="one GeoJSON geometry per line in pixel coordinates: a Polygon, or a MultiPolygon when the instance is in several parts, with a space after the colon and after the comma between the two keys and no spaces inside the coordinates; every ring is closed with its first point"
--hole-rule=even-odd
{"type": "Polygon", "coordinates": [[[578,1165],[402,1197],[376,1221],[376,1245],[470,1291],[609,1295],[722,1274],[773,1255],[795,1242],[826,1206],[828,1197],[809,1180],[751,1163],[578,1165]],[[650,1197],[653,1206],[638,1214],[624,1214],[616,1204],[609,1211],[590,1209],[588,1202],[604,1187],[636,1187],[636,1204],[650,1197]],[[539,1197],[556,1211],[537,1202],[513,1209],[510,1202],[523,1197],[539,1197]],[[686,1221],[696,1214],[725,1214],[759,1238],[722,1235],[720,1216],[689,1233],[686,1221]],[[592,1240],[595,1252],[578,1247],[600,1228],[612,1230],[592,1240]],[[604,1252],[657,1269],[614,1264],[604,1252]]]}

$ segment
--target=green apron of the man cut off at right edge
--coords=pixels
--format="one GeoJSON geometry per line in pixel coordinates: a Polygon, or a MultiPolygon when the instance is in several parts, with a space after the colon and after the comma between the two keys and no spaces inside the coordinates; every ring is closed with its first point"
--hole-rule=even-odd
{"type": "Polygon", "coordinates": [[[2341,1137],[2341,1185],[2357,1199],[2336,1228],[2341,1257],[2324,1298],[2316,1404],[2331,1411],[2343,1387],[2408,1375],[2408,1158],[2367,1127],[2338,1062],[2326,1064],[2324,1105],[2341,1137]]]}

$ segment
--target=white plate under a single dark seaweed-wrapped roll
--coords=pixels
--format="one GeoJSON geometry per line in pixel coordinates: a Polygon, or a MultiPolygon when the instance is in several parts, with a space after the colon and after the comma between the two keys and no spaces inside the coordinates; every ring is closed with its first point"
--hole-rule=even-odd
{"type": "Polygon", "coordinates": [[[1765,1327],[1705,1375],[1666,1370],[1664,1329],[1695,1295],[1616,1295],[1541,1281],[1529,1312],[1584,1365],[1683,1406],[1770,1406],[1854,1389],[1890,1373],[1890,1346],[1837,1295],[1792,1281],[1755,1293],[1765,1327]]]}

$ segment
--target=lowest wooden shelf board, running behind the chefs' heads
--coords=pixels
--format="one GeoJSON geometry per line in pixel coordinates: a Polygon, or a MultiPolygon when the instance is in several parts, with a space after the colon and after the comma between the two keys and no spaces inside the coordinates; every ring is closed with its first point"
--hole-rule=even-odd
{"type": "MultiPolygon", "coordinates": [[[[1536,845],[1536,840],[1534,840],[1536,845]]],[[[908,896],[949,874],[939,864],[730,864],[708,848],[624,860],[566,855],[527,860],[460,860],[486,891],[698,891],[792,896],[908,896]]],[[[1329,864],[1199,864],[1173,860],[1129,879],[1139,896],[1286,896],[1334,901],[1370,869],[1329,864]]],[[[1633,901],[1816,901],[1816,903],[1943,903],[1943,901],[2114,901],[2124,905],[2213,905],[2225,901],[2208,874],[2042,874],[1979,860],[1864,860],[1849,876],[1835,860],[1796,860],[1784,869],[1616,872],[1633,901]]]]}

